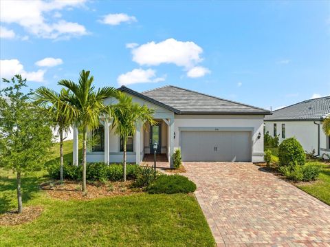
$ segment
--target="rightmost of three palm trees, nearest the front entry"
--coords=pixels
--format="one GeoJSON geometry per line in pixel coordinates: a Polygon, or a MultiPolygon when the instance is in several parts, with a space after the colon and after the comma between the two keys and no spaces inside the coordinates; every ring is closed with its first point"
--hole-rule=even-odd
{"type": "Polygon", "coordinates": [[[123,139],[123,170],[124,181],[126,181],[126,144],[129,136],[134,136],[136,125],[139,122],[150,122],[155,124],[153,120],[153,109],[148,109],[146,105],[139,105],[132,102],[132,98],[122,92],[118,92],[119,103],[112,107],[113,112],[113,128],[115,133],[123,139]]]}

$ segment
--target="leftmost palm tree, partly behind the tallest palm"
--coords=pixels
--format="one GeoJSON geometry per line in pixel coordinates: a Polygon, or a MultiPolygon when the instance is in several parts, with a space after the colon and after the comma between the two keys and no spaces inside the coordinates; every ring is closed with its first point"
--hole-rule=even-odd
{"type": "MultiPolygon", "coordinates": [[[[73,117],[70,114],[65,114],[66,104],[65,98],[69,94],[69,90],[62,89],[58,94],[52,89],[46,87],[39,87],[34,94],[34,102],[44,107],[49,107],[52,122],[54,122],[54,129],[58,128],[58,136],[60,136],[60,179],[63,182],[63,141],[66,137],[63,134],[69,131],[72,126],[73,117]]],[[[72,111],[70,111],[72,112],[72,111]]]]}

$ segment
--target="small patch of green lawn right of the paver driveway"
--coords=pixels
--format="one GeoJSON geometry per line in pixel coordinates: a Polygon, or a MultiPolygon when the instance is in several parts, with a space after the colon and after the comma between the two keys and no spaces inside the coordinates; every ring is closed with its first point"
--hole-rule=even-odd
{"type": "MultiPolygon", "coordinates": [[[[274,156],[273,161],[278,161],[278,149],[277,148],[267,148],[272,150],[272,155],[274,156]]],[[[321,173],[316,182],[311,183],[298,183],[296,186],[299,189],[309,193],[318,198],[322,202],[330,205],[330,165],[323,162],[307,161],[307,163],[315,163],[322,167],[321,173]]]]}

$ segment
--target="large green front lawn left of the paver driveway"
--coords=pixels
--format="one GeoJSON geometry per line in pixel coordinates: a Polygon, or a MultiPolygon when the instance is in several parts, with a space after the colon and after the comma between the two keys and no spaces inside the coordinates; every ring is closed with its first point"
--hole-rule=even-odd
{"type": "MultiPolygon", "coordinates": [[[[66,146],[72,149],[70,142],[66,146]]],[[[65,153],[72,156],[70,150],[65,153]]],[[[56,154],[50,160],[54,158],[56,154]]],[[[214,246],[192,195],[139,193],[63,201],[39,191],[45,180],[45,171],[23,177],[23,206],[39,205],[44,211],[33,222],[0,226],[0,246],[214,246]]],[[[0,169],[0,213],[16,208],[16,200],[15,176],[0,169]]]]}

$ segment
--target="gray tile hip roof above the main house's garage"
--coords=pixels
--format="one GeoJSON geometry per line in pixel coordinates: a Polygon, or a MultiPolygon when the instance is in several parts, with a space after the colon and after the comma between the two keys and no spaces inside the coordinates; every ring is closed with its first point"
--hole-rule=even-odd
{"type": "Polygon", "coordinates": [[[269,114],[270,111],[224,100],[175,86],[164,86],[142,92],[159,103],[179,111],[179,114],[269,114]]]}

